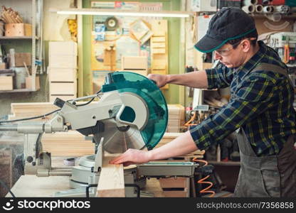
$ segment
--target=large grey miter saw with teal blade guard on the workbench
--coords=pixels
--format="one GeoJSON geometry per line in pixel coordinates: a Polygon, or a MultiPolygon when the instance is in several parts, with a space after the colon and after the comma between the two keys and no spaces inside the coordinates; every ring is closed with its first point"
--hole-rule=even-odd
{"type": "MultiPolygon", "coordinates": [[[[0,131],[25,134],[25,175],[70,176],[73,190],[57,192],[57,197],[94,196],[104,151],[124,153],[129,148],[151,150],[164,135],[168,121],[166,101],[157,85],[133,72],[109,73],[97,94],[66,102],[56,99],[54,104],[60,110],[51,120],[10,125],[0,123],[0,131]],[[100,100],[90,104],[95,98],[100,100]],[[83,99],[91,100],[86,104],[76,104],[83,99]],[[41,136],[43,133],[69,130],[93,136],[95,154],[80,158],[79,165],[71,169],[51,168],[51,153],[43,152],[41,136]]],[[[139,195],[139,188],[144,186],[147,177],[192,177],[197,166],[191,162],[151,162],[126,169],[126,196],[134,197],[136,191],[139,195]]]]}

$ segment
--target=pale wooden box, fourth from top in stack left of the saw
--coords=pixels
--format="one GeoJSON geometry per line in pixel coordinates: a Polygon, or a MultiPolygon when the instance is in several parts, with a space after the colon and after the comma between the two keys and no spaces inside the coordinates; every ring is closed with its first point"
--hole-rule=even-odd
{"type": "Polygon", "coordinates": [[[50,95],[57,95],[57,94],[76,95],[77,83],[76,82],[50,82],[49,93],[50,95]]]}

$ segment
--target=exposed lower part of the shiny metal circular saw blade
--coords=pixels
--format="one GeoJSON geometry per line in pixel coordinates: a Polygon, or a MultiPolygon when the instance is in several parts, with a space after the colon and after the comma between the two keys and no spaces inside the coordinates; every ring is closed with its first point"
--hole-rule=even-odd
{"type": "Polygon", "coordinates": [[[115,119],[103,121],[105,131],[100,134],[104,138],[104,150],[108,153],[124,153],[129,148],[142,149],[145,143],[136,126],[118,128],[115,119]]]}

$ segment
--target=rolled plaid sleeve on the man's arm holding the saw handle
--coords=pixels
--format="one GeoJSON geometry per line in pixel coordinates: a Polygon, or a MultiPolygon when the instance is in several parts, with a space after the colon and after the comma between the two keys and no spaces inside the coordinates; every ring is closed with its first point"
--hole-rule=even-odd
{"type": "Polygon", "coordinates": [[[206,69],[206,76],[208,78],[208,89],[229,87],[233,78],[233,69],[219,63],[215,68],[206,69]]]}

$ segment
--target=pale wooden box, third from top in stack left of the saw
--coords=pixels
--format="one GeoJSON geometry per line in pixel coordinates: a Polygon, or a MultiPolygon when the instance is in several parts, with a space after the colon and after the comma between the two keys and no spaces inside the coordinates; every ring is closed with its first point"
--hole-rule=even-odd
{"type": "Polygon", "coordinates": [[[77,69],[48,67],[48,80],[50,82],[75,82],[77,80],[77,69]]]}

